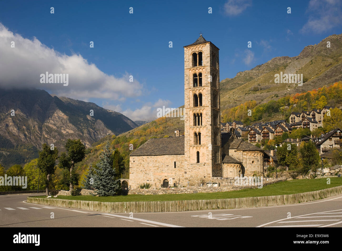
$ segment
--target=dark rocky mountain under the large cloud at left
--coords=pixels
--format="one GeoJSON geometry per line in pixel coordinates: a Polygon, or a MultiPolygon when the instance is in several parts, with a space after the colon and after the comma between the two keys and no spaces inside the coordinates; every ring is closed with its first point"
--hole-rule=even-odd
{"type": "Polygon", "coordinates": [[[128,117],[95,103],[52,97],[39,89],[0,89],[0,163],[6,166],[13,164],[13,159],[22,164],[30,154],[37,156],[43,143],[62,150],[68,138],[77,138],[90,147],[106,135],[135,127],[128,117]]]}

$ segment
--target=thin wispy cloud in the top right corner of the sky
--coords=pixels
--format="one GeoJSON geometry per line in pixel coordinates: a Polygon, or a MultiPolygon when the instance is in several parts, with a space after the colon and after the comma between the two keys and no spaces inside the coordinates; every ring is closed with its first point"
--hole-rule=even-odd
{"type": "Polygon", "coordinates": [[[341,0],[311,0],[306,13],[308,21],[300,30],[302,33],[321,33],[342,24],[341,0]]]}

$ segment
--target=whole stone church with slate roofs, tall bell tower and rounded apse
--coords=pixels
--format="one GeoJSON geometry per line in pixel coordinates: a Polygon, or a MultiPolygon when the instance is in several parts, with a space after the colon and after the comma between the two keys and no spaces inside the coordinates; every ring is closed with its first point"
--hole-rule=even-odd
{"type": "Polygon", "coordinates": [[[151,138],[130,154],[129,185],[199,185],[212,177],[263,176],[264,152],[221,133],[219,48],[202,35],[184,46],[184,136],[151,138]]]}

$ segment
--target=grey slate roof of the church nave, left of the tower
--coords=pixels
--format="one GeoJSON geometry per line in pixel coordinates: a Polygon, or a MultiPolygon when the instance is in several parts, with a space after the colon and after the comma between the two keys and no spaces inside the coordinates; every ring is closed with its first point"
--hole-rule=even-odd
{"type": "Polygon", "coordinates": [[[184,154],[184,136],[152,138],[147,140],[130,156],[156,156],[184,154]]]}

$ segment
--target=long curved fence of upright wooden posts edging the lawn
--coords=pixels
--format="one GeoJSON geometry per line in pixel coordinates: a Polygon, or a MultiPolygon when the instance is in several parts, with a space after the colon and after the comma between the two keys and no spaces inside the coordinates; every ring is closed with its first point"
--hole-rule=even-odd
{"type": "Polygon", "coordinates": [[[232,209],[265,207],[287,204],[297,204],[317,199],[326,198],[342,194],[342,186],[336,186],[328,189],[306,192],[300,194],[274,195],[249,198],[232,199],[210,199],[210,200],[175,200],[175,201],[132,201],[132,202],[99,202],[84,200],[67,199],[48,199],[28,197],[27,202],[89,209],[94,211],[109,213],[145,213],[145,212],[181,212],[194,210],[214,210],[214,209],[232,209]]]}

